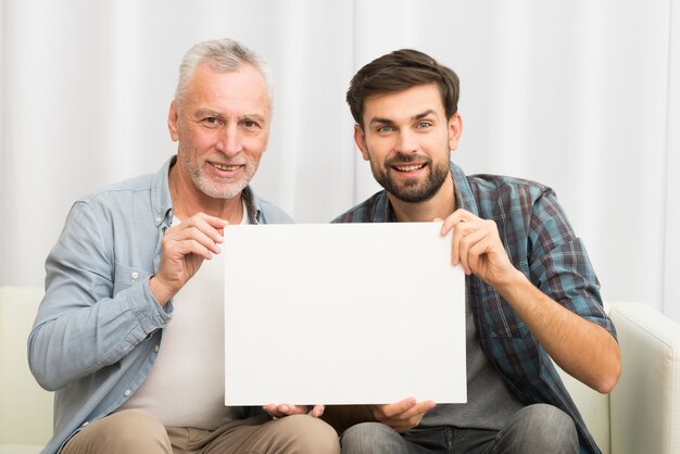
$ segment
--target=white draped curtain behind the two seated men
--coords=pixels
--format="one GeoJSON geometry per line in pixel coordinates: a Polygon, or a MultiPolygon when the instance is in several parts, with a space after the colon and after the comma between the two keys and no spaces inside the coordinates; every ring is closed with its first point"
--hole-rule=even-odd
{"type": "Polygon", "coordinates": [[[680,321],[672,0],[0,2],[0,285],[41,285],[77,197],[174,153],[179,61],[231,37],[274,65],[272,140],[253,187],[298,222],[328,222],[378,190],[344,93],[363,64],[416,48],[462,79],[454,161],[552,186],[604,298],[680,321]]]}

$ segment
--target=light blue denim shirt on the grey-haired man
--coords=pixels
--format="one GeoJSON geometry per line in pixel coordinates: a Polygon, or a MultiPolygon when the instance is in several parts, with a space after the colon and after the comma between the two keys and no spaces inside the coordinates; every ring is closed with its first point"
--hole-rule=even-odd
{"type": "MultiPolygon", "coordinates": [[[[116,409],[153,366],[172,301],[161,307],[149,278],[173,219],[168,171],[95,191],[76,201],[46,262],[46,294],[28,338],[30,369],[54,390],[59,452],[77,430],[116,409]]],[[[292,223],[277,206],[243,191],[253,224],[292,223]]],[[[247,411],[247,415],[253,411],[247,411]]]]}

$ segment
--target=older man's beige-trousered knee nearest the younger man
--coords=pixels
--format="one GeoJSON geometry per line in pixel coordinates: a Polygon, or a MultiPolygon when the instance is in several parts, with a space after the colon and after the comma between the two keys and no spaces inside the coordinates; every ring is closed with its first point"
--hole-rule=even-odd
{"type": "Polygon", "coordinates": [[[340,453],[338,433],[326,421],[308,415],[292,415],[280,418],[279,437],[281,444],[289,446],[291,453],[340,453]]]}

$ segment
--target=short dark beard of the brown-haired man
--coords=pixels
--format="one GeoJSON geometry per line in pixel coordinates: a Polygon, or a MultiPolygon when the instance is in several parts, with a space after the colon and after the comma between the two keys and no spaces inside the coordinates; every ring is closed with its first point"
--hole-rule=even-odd
{"type": "Polygon", "coordinates": [[[449,175],[449,166],[440,165],[432,166],[432,161],[428,160],[427,165],[430,167],[430,176],[421,185],[418,180],[406,180],[403,185],[398,185],[389,176],[389,168],[395,164],[408,164],[414,159],[411,156],[396,155],[394,159],[386,162],[383,172],[376,172],[373,169],[373,175],[376,180],[392,196],[396,197],[402,202],[406,203],[419,203],[426,202],[435,197],[437,191],[442,187],[449,175]]]}

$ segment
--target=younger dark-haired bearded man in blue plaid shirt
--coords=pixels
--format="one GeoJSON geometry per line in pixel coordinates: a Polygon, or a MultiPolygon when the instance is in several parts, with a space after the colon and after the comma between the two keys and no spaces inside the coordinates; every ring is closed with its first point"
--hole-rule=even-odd
{"type": "Polygon", "coordinates": [[[324,417],[347,428],[342,452],[599,452],[549,355],[607,393],[620,374],[618,344],[554,192],[466,176],[450,162],[463,126],[458,78],[429,55],[380,56],[354,76],[347,100],[354,140],[385,190],[336,222],[440,219],[442,235],[454,230],[452,263],[467,275],[468,401],[328,407],[324,417]]]}

